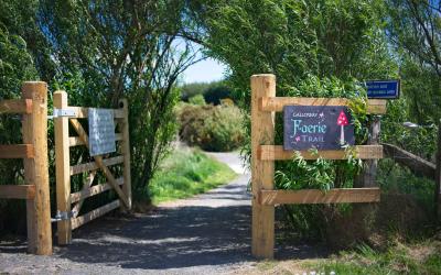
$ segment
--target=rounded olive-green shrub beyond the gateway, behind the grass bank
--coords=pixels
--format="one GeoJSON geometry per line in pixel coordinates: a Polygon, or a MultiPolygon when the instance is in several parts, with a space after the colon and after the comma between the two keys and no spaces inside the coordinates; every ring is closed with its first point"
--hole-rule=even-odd
{"type": "Polygon", "coordinates": [[[245,139],[244,117],[235,106],[182,106],[180,136],[192,146],[224,152],[239,147],[245,139]]]}

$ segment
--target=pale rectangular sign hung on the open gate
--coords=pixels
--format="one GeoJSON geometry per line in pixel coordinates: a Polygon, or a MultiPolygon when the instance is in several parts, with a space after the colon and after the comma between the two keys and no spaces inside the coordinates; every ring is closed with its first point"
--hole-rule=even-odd
{"type": "Polygon", "coordinates": [[[115,121],[111,109],[88,109],[89,152],[92,156],[115,152],[115,121]]]}

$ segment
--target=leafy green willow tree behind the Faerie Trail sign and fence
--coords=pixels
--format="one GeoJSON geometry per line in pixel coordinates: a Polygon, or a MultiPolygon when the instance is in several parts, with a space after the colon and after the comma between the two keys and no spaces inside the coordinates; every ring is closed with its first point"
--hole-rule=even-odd
{"type": "MultiPolygon", "coordinates": [[[[254,74],[275,74],[278,97],[347,98],[363,96],[357,86],[363,80],[397,75],[378,14],[384,10],[380,0],[200,0],[193,6],[201,11],[195,21],[204,26],[196,40],[204,40],[208,54],[229,66],[227,81],[246,113],[254,74]]],[[[365,123],[366,114],[355,117],[365,123]]],[[[283,139],[281,119],[276,117],[276,144],[283,139]]],[[[366,127],[361,125],[358,143],[366,140],[366,127]]],[[[249,144],[246,154],[249,157],[249,144]]],[[[277,162],[276,170],[277,188],[348,187],[359,163],[277,162]]],[[[286,209],[299,231],[316,235],[324,233],[336,208],[286,209]]]]}

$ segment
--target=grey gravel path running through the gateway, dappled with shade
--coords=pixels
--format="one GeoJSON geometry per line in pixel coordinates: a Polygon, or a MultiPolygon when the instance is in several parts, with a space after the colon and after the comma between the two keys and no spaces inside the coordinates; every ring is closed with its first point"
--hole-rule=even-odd
{"type": "MultiPolygon", "coordinates": [[[[162,204],[133,218],[105,217],[75,230],[53,256],[25,254],[25,244],[0,243],[0,273],[11,274],[226,274],[252,273],[249,173],[237,153],[209,153],[239,176],[191,199],[162,204]],[[251,268],[251,270],[250,270],[251,268]]],[[[308,246],[277,255],[304,258],[308,246]]],[[[316,255],[315,255],[316,256],[316,255]]]]}

